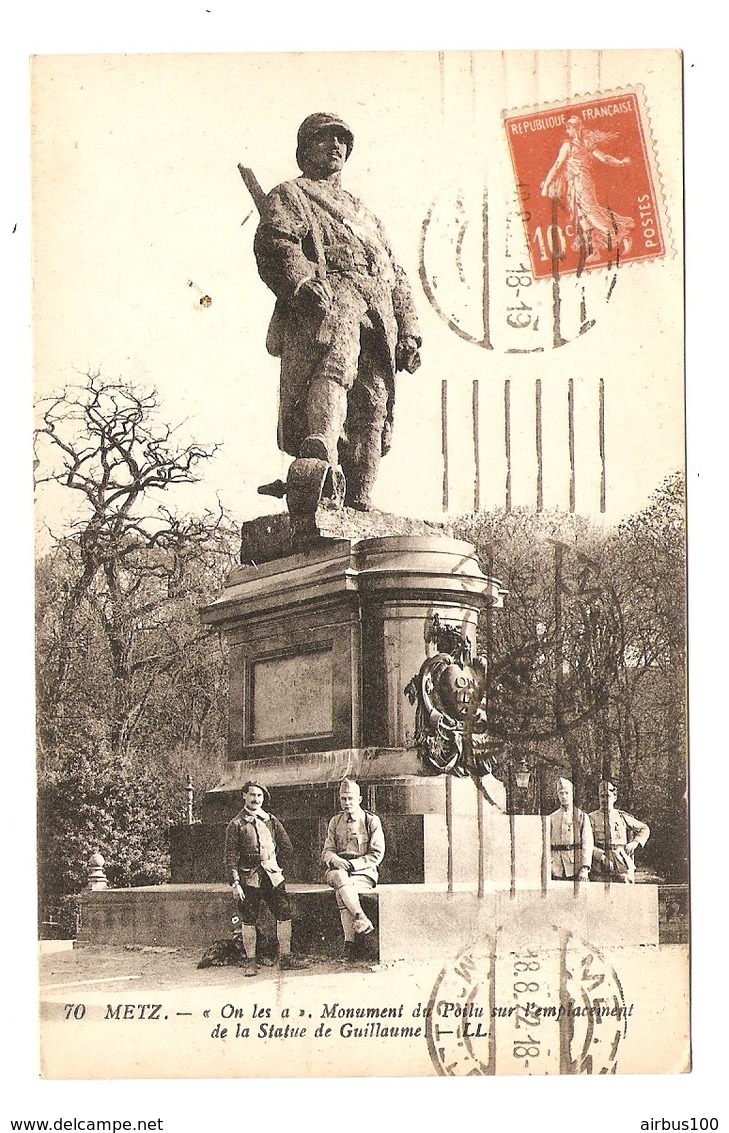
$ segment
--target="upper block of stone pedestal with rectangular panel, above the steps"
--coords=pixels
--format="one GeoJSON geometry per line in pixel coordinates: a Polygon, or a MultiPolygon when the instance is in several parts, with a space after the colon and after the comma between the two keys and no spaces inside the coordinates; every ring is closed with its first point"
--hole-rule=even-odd
{"type": "Polygon", "coordinates": [[[234,571],[203,612],[230,647],[230,759],[274,772],[310,752],[412,749],[405,688],[433,615],[475,645],[502,597],[471,544],[438,534],[321,539],[234,571]]]}

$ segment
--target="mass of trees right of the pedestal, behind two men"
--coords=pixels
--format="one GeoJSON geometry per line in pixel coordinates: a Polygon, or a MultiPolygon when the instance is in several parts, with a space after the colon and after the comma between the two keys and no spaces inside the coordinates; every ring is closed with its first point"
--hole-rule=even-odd
{"type": "Polygon", "coordinates": [[[465,518],[509,590],[482,617],[489,717],[503,755],[525,749],[596,806],[601,777],[650,823],[646,863],[687,874],[684,485],[669,478],[617,529],[560,512],[465,518]]]}

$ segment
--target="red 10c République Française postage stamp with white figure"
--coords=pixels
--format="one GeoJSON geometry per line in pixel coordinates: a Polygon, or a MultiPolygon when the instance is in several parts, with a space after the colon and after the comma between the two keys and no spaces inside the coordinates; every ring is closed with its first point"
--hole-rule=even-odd
{"type": "Polygon", "coordinates": [[[535,279],[666,255],[637,91],[506,111],[535,279]]]}

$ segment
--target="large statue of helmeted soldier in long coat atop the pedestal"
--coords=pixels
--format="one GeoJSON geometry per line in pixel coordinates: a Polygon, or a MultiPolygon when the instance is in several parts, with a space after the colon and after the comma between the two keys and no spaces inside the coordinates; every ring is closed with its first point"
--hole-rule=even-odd
{"type": "Polygon", "coordinates": [[[395,374],[417,369],[421,335],[382,224],[341,187],[351,130],[315,113],[297,140],[303,176],[269,193],[254,244],[277,298],[266,347],[281,358],[279,448],[341,466],[346,505],[366,511],[390,449],[395,374]]]}

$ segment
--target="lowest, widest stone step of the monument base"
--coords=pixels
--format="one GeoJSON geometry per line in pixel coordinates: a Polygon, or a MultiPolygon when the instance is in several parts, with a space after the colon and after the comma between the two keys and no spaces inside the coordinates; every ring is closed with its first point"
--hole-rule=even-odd
{"type": "MultiPolygon", "coordinates": [[[[334,956],[341,926],[325,885],[287,885],[294,912],[293,949],[334,956]]],[[[473,886],[381,885],[363,895],[375,932],[362,942],[372,961],[447,960],[464,948],[489,952],[500,935],[508,947],[559,947],[565,934],[593,946],[659,944],[658,887],[587,883],[551,884],[545,891],[473,886]]],[[[198,947],[226,939],[236,912],[224,885],[164,885],[86,891],[79,895],[79,942],[111,945],[198,947]]],[[[260,949],[276,948],[276,926],[260,925],[260,949]]]]}

